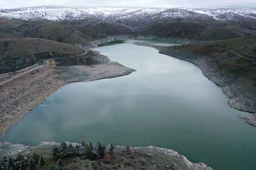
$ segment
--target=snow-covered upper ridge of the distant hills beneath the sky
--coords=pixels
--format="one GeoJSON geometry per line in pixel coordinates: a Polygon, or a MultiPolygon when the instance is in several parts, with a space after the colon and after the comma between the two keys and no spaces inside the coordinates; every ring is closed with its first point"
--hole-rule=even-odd
{"type": "Polygon", "coordinates": [[[0,16],[9,18],[79,20],[100,17],[103,20],[127,19],[130,17],[210,17],[216,20],[236,20],[237,16],[256,19],[256,8],[127,8],[93,7],[66,8],[42,6],[31,8],[0,9],[0,16]]]}

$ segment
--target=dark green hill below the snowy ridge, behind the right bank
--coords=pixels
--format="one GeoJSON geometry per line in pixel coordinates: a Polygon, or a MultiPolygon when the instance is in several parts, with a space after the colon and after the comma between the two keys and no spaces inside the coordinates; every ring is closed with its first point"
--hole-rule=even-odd
{"type": "Polygon", "coordinates": [[[222,40],[255,34],[256,31],[238,26],[211,26],[209,23],[157,22],[136,34],[159,37],[179,37],[191,40],[222,40]]]}

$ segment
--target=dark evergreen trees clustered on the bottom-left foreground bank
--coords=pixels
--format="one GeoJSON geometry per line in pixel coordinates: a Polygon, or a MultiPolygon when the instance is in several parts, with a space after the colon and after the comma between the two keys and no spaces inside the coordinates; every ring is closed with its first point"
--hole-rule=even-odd
{"type": "MultiPolygon", "coordinates": [[[[76,144],[76,146],[66,142],[62,142],[59,146],[55,145],[52,148],[53,159],[49,159],[47,162],[44,161],[43,156],[38,156],[37,153],[33,153],[32,156],[18,154],[15,158],[4,156],[0,160],[0,170],[76,170],[76,163],[79,163],[81,157],[92,161],[104,159],[106,164],[110,163],[111,155],[106,153],[104,144],[97,142],[94,147],[92,143],[76,144]],[[65,161],[66,163],[64,163],[63,159],[69,160],[69,158],[76,159],[73,162],[65,161]]],[[[111,144],[111,148],[109,151],[113,155],[113,144],[111,144]]]]}

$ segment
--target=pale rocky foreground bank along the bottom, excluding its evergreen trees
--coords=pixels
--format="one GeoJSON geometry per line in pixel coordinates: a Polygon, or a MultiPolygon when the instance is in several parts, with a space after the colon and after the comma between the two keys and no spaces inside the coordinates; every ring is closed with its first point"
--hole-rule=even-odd
{"type": "MultiPolygon", "coordinates": [[[[69,145],[70,143],[67,142],[69,145]]],[[[73,146],[81,145],[71,143],[73,146]]],[[[41,142],[38,146],[26,146],[24,144],[11,144],[0,142],[1,156],[16,156],[18,153],[31,156],[37,153],[44,159],[52,159],[52,147],[60,145],[56,142],[41,142]]],[[[102,169],[117,170],[213,170],[204,163],[192,163],[185,156],[177,153],[175,150],[161,147],[130,147],[126,151],[124,146],[115,146],[114,153],[116,159],[111,160],[111,164],[105,164],[104,160],[90,161],[83,156],[76,158],[76,164],[81,170],[102,169]]]]}

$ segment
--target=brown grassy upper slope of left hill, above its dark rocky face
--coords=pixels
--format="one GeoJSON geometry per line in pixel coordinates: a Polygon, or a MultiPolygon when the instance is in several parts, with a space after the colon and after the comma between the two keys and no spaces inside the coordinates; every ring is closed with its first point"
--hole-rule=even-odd
{"type": "Polygon", "coordinates": [[[83,49],[73,45],[40,38],[0,39],[0,60],[10,59],[20,54],[54,51],[60,55],[81,54],[83,49]]]}

